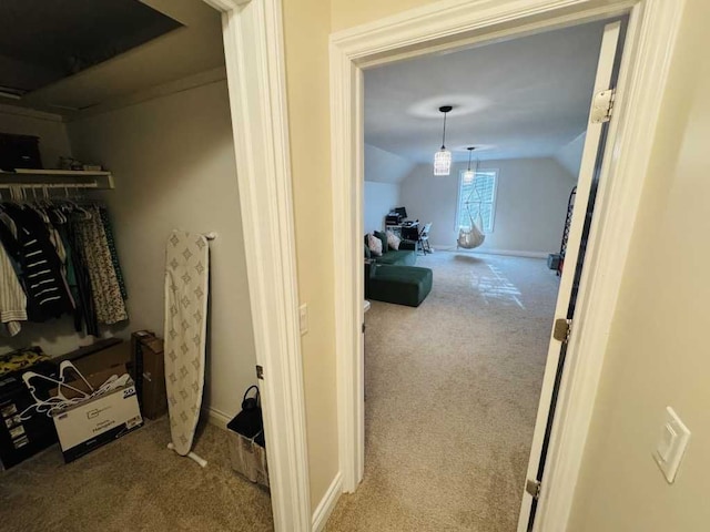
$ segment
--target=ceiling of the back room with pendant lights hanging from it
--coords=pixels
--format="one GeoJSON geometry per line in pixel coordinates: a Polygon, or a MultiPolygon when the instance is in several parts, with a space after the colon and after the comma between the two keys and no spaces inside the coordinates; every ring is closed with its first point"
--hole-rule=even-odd
{"type": "Polygon", "coordinates": [[[415,163],[442,145],[481,160],[549,157],[587,125],[604,21],[365,71],[365,142],[415,163]]]}

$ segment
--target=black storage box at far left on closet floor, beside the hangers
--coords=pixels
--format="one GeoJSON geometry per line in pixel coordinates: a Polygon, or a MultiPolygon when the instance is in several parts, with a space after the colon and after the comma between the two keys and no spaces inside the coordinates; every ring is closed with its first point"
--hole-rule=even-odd
{"type": "MultiPolygon", "coordinates": [[[[40,351],[41,352],[41,351],[40,351]]],[[[27,408],[34,403],[22,381],[24,371],[34,371],[55,377],[57,368],[51,362],[39,362],[0,376],[0,469],[9,469],[57,443],[57,431],[52,419],[45,413],[27,408]],[[23,418],[20,415],[26,411],[23,418]]],[[[53,385],[38,380],[37,393],[49,396],[53,385]]]]}

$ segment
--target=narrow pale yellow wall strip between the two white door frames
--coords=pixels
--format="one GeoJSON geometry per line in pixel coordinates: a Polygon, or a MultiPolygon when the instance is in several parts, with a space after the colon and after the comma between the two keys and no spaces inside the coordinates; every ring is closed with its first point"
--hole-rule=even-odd
{"type": "Polygon", "coordinates": [[[302,355],[313,509],[338,470],[328,32],[327,2],[284,0],[298,296],[308,305],[302,355]]]}

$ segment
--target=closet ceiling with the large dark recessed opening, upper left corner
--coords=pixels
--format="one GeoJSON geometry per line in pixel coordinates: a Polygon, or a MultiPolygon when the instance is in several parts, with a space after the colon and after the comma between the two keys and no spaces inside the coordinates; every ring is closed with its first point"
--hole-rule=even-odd
{"type": "MultiPolygon", "coordinates": [[[[10,4],[14,1],[20,0],[13,0],[10,4]]],[[[22,1],[47,4],[42,0],[22,1]]],[[[22,52],[18,51],[17,47],[13,49],[11,43],[0,38],[0,68],[2,68],[2,61],[21,62],[28,71],[24,75],[34,76],[33,82],[37,86],[55,78],[58,62],[49,61],[47,58],[51,59],[52,54],[42,53],[40,50],[42,47],[52,45],[51,40],[44,38],[49,34],[61,35],[62,31],[59,27],[65,28],[75,24],[73,17],[79,16],[79,8],[88,9],[87,2],[100,3],[102,11],[106,7],[105,12],[112,13],[109,19],[115,22],[113,33],[118,31],[118,28],[130,25],[131,20],[134,20],[135,23],[144,22],[148,8],[163,13],[169,19],[168,21],[162,19],[161,22],[152,25],[146,24],[148,29],[143,37],[150,38],[165,29],[169,31],[108,61],[91,65],[73,75],[59,79],[59,81],[50,82],[50,84],[28,93],[21,100],[0,98],[0,102],[72,116],[108,101],[224,65],[220,13],[202,1],[144,0],[140,2],[143,9],[133,10],[135,14],[131,19],[125,13],[121,14],[120,8],[122,4],[124,7],[134,4],[135,0],[109,0],[105,1],[105,6],[104,0],[101,2],[62,0],[52,2],[55,6],[49,11],[43,11],[43,7],[38,6],[33,11],[17,12],[12,23],[22,27],[27,34],[26,42],[36,40],[39,44],[22,52]],[[108,8],[109,6],[111,8],[108,8]],[[58,7],[64,8],[60,9],[61,14],[54,12],[59,9],[58,7]],[[170,22],[171,20],[173,22],[170,22]],[[176,29],[171,30],[171,28],[176,29]]],[[[108,27],[111,27],[111,22],[108,22],[108,27]]],[[[101,32],[105,28],[97,28],[97,30],[101,32]]],[[[109,33],[110,40],[120,47],[123,38],[109,33]]],[[[55,47],[60,48],[58,44],[55,47]]],[[[100,55],[104,52],[97,53],[101,59],[100,55]]],[[[59,73],[63,75],[63,72],[59,73]]]]}

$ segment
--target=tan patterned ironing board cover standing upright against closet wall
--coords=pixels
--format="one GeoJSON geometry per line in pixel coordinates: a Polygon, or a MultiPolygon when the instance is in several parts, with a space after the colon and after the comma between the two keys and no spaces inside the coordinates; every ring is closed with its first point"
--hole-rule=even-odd
{"type": "Polygon", "coordinates": [[[204,388],[210,247],[204,236],[173,231],[165,253],[165,387],[178,453],[192,448],[204,388]]]}

